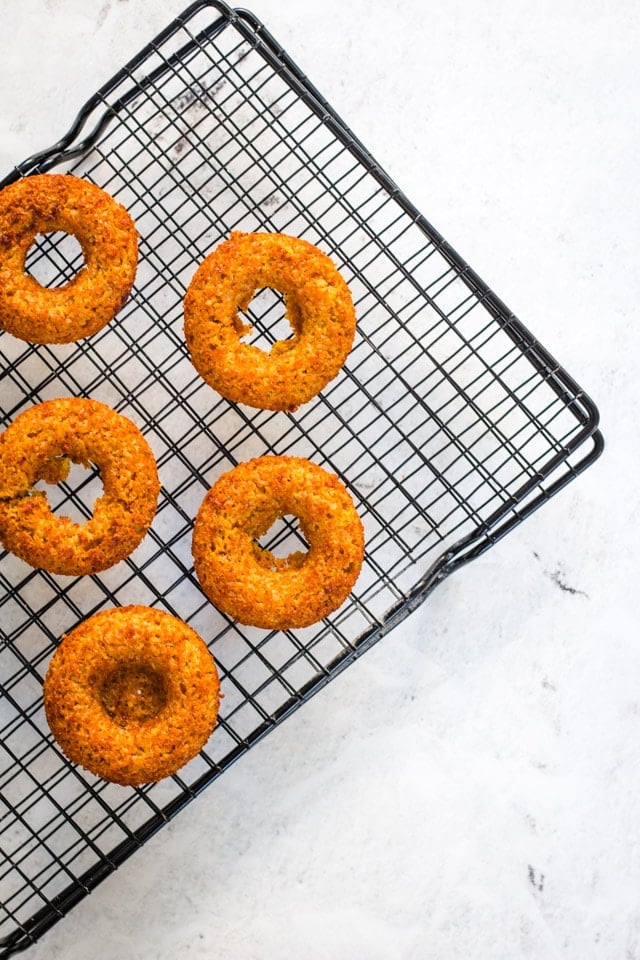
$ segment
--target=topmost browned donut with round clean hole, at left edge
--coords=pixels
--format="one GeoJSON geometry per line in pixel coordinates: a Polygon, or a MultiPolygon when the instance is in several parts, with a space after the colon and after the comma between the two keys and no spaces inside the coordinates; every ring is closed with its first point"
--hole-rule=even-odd
{"type": "Polygon", "coordinates": [[[100,187],[70,174],[34,174],[0,191],[0,328],[31,343],[70,343],[96,333],[129,296],[138,262],[133,220],[100,187]],[[80,244],[84,266],[44,287],[25,273],[39,233],[80,244]]]}

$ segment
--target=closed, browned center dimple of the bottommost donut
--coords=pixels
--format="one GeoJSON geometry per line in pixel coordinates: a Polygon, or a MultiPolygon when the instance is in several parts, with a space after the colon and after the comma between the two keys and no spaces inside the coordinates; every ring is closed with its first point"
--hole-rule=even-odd
{"type": "Polygon", "coordinates": [[[104,677],[99,696],[105,712],[126,727],[158,716],[167,704],[167,685],[149,664],[123,663],[104,677]]]}

